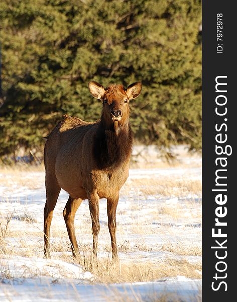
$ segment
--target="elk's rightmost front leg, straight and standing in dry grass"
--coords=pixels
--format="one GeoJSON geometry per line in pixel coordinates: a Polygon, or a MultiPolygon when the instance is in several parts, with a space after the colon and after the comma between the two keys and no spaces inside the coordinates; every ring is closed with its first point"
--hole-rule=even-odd
{"type": "Polygon", "coordinates": [[[117,258],[117,244],[116,244],[117,203],[118,203],[118,194],[112,198],[107,198],[108,230],[111,238],[112,259],[117,258]]]}

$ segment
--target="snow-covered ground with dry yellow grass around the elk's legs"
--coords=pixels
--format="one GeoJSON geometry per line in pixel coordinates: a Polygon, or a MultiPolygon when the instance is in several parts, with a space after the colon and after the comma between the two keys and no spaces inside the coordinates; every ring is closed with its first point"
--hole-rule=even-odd
{"type": "MultiPolygon", "coordinates": [[[[46,260],[43,168],[37,172],[2,169],[0,300],[200,301],[201,158],[187,155],[182,146],[175,152],[180,161],[168,166],[156,158],[155,147],[135,147],[134,167],[142,168],[130,169],[121,190],[116,216],[120,262],[114,273],[106,200],[100,201],[98,269],[72,262],[62,216],[68,198],[65,191],[54,210],[52,259],[46,260]]],[[[75,227],[84,264],[88,264],[92,235],[86,200],[77,211],[75,227]]]]}

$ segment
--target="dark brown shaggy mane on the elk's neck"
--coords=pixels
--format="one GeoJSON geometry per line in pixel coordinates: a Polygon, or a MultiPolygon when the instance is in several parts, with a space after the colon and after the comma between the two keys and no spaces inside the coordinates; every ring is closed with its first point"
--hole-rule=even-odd
{"type": "Polygon", "coordinates": [[[132,146],[133,132],[129,123],[123,125],[116,136],[113,128],[106,129],[100,122],[93,143],[93,156],[98,169],[114,169],[128,161],[132,146]]]}

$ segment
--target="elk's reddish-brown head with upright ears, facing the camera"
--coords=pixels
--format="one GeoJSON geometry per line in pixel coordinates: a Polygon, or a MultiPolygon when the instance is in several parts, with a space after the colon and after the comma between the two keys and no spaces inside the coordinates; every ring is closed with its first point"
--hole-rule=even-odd
{"type": "Polygon", "coordinates": [[[129,118],[129,101],[139,96],[142,84],[136,82],[131,84],[128,89],[125,89],[123,85],[111,84],[104,89],[102,85],[92,81],[89,82],[88,87],[92,96],[103,102],[101,120],[108,128],[113,125],[115,134],[118,135],[120,127],[129,118]]]}

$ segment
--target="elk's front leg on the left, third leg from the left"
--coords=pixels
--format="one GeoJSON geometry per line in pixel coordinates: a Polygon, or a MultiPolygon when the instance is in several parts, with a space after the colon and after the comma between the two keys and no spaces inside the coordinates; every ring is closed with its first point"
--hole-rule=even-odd
{"type": "Polygon", "coordinates": [[[90,216],[92,220],[93,254],[97,257],[97,239],[100,230],[99,225],[99,196],[97,193],[88,194],[90,216]]]}

